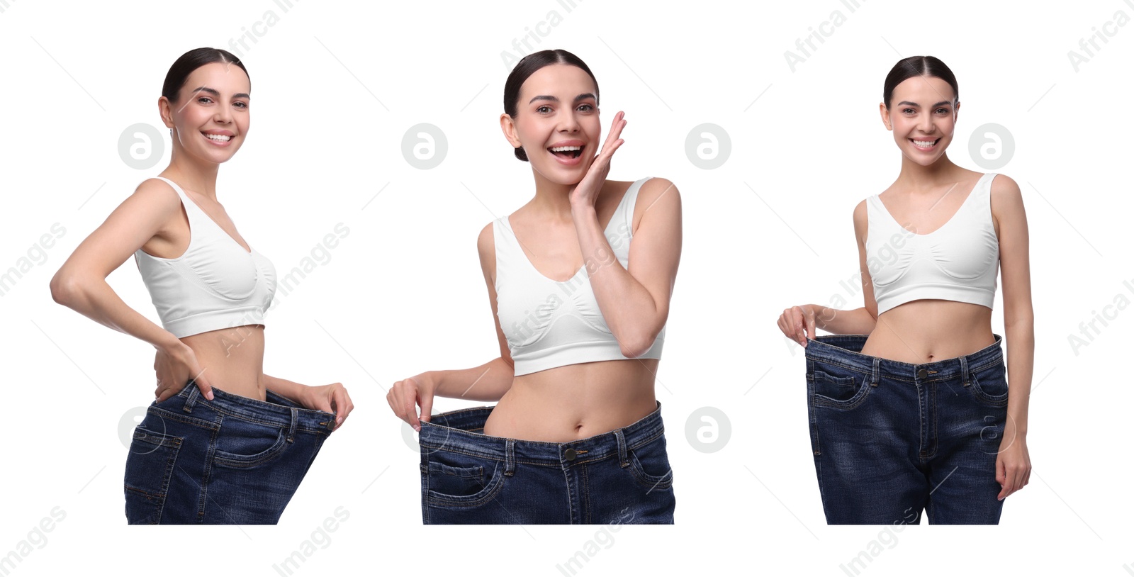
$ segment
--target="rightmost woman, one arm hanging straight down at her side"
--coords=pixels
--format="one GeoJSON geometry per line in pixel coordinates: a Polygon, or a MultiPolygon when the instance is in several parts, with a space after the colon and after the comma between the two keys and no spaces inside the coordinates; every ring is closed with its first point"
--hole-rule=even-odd
{"type": "Polygon", "coordinates": [[[829,524],[996,524],[1027,484],[1034,350],[1019,187],[946,155],[957,80],[933,57],[900,60],[880,112],[898,178],[854,211],[865,306],[785,309],[806,347],[815,472],[829,524]],[[951,215],[951,217],[950,217],[951,215]],[[1008,374],[992,333],[997,264],[1008,374]],[[815,338],[815,328],[835,333],[815,338]]]}

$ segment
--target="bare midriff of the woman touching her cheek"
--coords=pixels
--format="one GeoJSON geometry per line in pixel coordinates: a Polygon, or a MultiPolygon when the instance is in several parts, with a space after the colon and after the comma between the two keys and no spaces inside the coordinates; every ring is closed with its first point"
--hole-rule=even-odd
{"type": "Polygon", "coordinates": [[[600,360],[517,376],[484,434],[569,442],[634,424],[657,408],[658,359],[600,360]]]}

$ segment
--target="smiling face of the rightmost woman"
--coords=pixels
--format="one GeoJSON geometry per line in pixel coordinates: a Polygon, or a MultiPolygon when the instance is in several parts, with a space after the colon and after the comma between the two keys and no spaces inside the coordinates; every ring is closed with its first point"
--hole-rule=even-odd
{"type": "Polygon", "coordinates": [[[957,124],[955,94],[941,78],[914,76],[894,88],[890,108],[880,107],[882,122],[907,159],[929,166],[945,155],[957,124]]]}

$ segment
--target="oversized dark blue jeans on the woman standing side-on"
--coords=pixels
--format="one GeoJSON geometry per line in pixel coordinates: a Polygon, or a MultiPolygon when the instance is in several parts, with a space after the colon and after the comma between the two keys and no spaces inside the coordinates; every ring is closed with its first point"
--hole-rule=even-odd
{"type": "Polygon", "coordinates": [[[153,402],[126,458],[130,524],[274,524],[335,415],[268,391],[266,401],[188,385],[153,402]]]}

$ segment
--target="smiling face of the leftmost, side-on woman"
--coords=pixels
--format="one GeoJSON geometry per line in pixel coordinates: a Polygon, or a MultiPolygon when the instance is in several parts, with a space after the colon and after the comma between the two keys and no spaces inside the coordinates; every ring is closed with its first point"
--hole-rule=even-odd
{"type": "Polygon", "coordinates": [[[248,131],[251,91],[238,66],[213,62],[194,70],[177,102],[159,100],[161,118],[174,129],[174,147],[206,162],[232,158],[248,131]]]}

